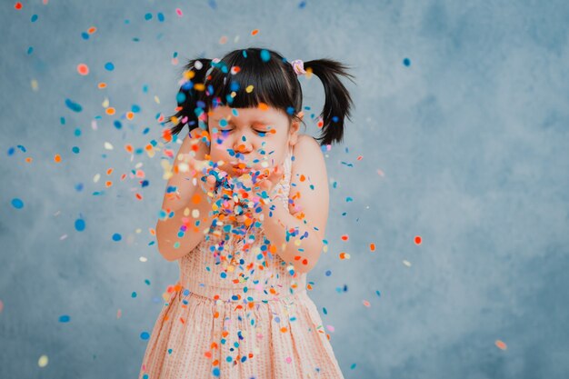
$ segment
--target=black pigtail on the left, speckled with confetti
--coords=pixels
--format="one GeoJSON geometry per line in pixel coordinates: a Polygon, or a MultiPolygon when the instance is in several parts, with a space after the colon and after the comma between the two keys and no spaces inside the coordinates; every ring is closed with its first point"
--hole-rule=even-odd
{"type": "Polygon", "coordinates": [[[206,73],[211,66],[211,59],[192,59],[185,66],[182,75],[184,84],[180,86],[176,102],[175,115],[168,116],[174,126],[170,128],[173,135],[179,134],[185,125],[190,131],[199,126],[198,117],[203,112],[198,106],[204,96],[206,73]]]}

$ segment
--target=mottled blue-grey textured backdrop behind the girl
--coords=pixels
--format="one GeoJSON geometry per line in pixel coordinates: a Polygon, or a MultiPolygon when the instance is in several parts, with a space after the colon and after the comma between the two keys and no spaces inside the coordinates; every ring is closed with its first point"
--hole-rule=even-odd
{"type": "Polygon", "coordinates": [[[0,377],[136,377],[178,270],[150,234],[178,146],[157,117],[185,59],[247,46],[354,67],[354,117],[326,154],[329,250],[308,277],[345,377],[569,376],[566,1],[43,2],[0,13],[0,377]]]}

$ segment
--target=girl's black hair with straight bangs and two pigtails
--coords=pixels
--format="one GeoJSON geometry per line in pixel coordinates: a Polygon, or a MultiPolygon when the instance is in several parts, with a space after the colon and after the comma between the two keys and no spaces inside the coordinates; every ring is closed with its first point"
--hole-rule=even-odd
{"type": "MultiPolygon", "coordinates": [[[[342,142],[344,118],[350,119],[352,98],[340,82],[340,75],[353,83],[354,75],[345,65],[332,59],[304,62],[306,73],[318,76],[324,85],[322,133],[316,138],[320,145],[342,142]]],[[[289,122],[299,121],[303,91],[293,65],[275,51],[250,47],[234,50],[221,59],[198,58],[183,68],[184,83],[176,97],[175,115],[167,117],[174,126],[170,132],[177,135],[185,125],[192,131],[206,120],[208,110],[218,105],[233,108],[252,108],[265,103],[280,109],[289,122]]],[[[320,126],[320,125],[319,125],[320,126]]]]}

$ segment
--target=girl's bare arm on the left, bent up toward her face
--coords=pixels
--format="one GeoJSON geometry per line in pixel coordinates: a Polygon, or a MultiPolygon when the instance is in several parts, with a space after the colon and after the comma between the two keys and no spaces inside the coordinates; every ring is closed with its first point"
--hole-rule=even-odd
{"type": "Polygon", "coordinates": [[[166,217],[172,212],[174,215],[165,220],[159,219],[156,223],[158,251],[167,261],[175,261],[191,252],[204,239],[206,229],[213,221],[209,215],[211,204],[197,183],[199,177],[193,175],[191,168],[187,172],[185,164],[179,160],[181,155],[187,155],[191,151],[195,151],[195,159],[201,160],[207,154],[208,147],[191,135],[185,138],[175,156],[172,176],[168,179],[162,203],[166,217]],[[194,210],[199,213],[198,218],[193,217],[194,210]],[[198,220],[199,224],[195,225],[198,220]],[[183,224],[186,225],[186,230],[180,238],[178,233],[183,224]]]}

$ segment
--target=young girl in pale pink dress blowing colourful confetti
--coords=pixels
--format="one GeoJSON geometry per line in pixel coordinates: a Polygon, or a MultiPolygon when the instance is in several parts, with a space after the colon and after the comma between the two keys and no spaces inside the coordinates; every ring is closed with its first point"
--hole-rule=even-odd
{"type": "MultiPolygon", "coordinates": [[[[260,48],[185,65],[178,151],[156,224],[177,261],[140,379],[343,378],[306,273],[324,247],[328,178],[321,145],[341,142],[352,99],[329,59],[288,62],[260,48]],[[297,75],[324,85],[322,135],[299,134],[297,75]]],[[[168,136],[170,130],[166,130],[168,136]]]]}

